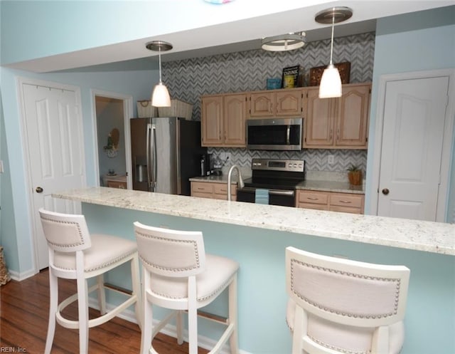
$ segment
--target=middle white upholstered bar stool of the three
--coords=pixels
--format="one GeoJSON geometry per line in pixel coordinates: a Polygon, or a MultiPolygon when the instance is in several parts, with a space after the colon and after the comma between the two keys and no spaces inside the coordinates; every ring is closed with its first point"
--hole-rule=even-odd
{"type": "Polygon", "coordinates": [[[182,313],[188,311],[189,353],[198,353],[198,308],[208,305],[228,288],[229,315],[225,328],[210,353],[218,353],[230,340],[230,353],[238,354],[237,343],[237,270],[239,265],[220,256],[205,254],[200,231],[177,231],[134,223],[139,259],[143,265],[144,326],[141,354],[153,353],[151,341],[171,318],[177,318],[177,340],[183,343],[182,313]],[[155,328],[152,305],[174,311],[155,328]]]}

